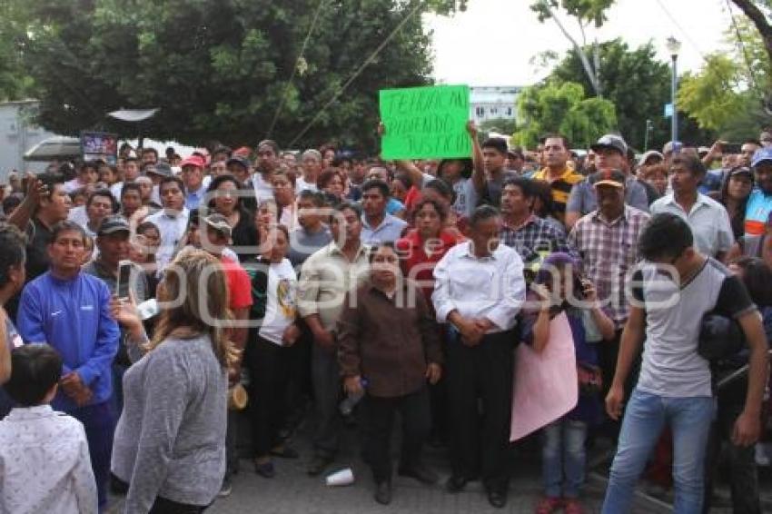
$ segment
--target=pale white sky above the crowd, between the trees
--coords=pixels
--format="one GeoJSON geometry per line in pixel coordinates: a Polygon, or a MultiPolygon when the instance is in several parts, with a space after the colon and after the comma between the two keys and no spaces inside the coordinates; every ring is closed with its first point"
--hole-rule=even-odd
{"type": "MultiPolygon", "coordinates": [[[[468,9],[453,16],[426,15],[433,32],[434,77],[443,84],[529,85],[549,70],[530,64],[544,50],[564,54],[570,47],[552,20],[539,24],[532,0],[468,0],[468,9]]],[[[737,13],[736,9],[733,9],[737,13]]],[[[588,33],[588,41],[621,37],[635,48],[651,40],[658,57],[669,61],[665,40],[681,41],[679,73],[697,71],[703,55],[726,48],[731,27],[726,0],[617,0],[609,20],[588,33]]],[[[576,21],[561,18],[579,37],[576,21]]]]}

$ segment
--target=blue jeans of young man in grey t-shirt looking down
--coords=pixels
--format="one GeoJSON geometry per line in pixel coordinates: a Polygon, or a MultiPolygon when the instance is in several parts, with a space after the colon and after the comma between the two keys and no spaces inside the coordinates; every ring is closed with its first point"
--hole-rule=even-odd
{"type": "Polygon", "coordinates": [[[666,398],[633,390],[611,464],[603,514],[629,512],[636,481],[666,423],[673,433],[674,510],[676,514],[700,514],[714,410],[710,397],[666,398]]]}

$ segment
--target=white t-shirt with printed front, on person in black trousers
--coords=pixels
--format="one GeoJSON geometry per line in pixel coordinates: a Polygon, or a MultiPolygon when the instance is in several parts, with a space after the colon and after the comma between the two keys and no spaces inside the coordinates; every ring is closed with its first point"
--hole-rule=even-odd
{"type": "Polygon", "coordinates": [[[260,337],[282,344],[284,330],[292,325],[297,313],[298,278],[288,259],[268,267],[268,301],[260,337]]]}

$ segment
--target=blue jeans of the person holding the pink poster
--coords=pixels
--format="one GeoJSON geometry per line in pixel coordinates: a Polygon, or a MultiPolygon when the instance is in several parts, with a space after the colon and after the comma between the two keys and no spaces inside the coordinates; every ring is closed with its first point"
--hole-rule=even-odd
{"type": "Polygon", "coordinates": [[[584,485],[587,423],[561,418],[542,430],[541,475],[550,498],[579,498],[584,485]]]}

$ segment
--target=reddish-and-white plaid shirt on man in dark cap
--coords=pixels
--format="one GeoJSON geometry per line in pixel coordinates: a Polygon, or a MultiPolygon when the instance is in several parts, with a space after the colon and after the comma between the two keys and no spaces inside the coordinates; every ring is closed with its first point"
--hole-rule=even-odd
{"type": "Polygon", "coordinates": [[[625,205],[618,219],[607,221],[600,211],[579,219],[569,233],[569,244],[579,252],[582,268],[595,283],[604,310],[621,328],[628,319],[625,284],[638,262],[638,235],[648,213],[625,205]]]}

